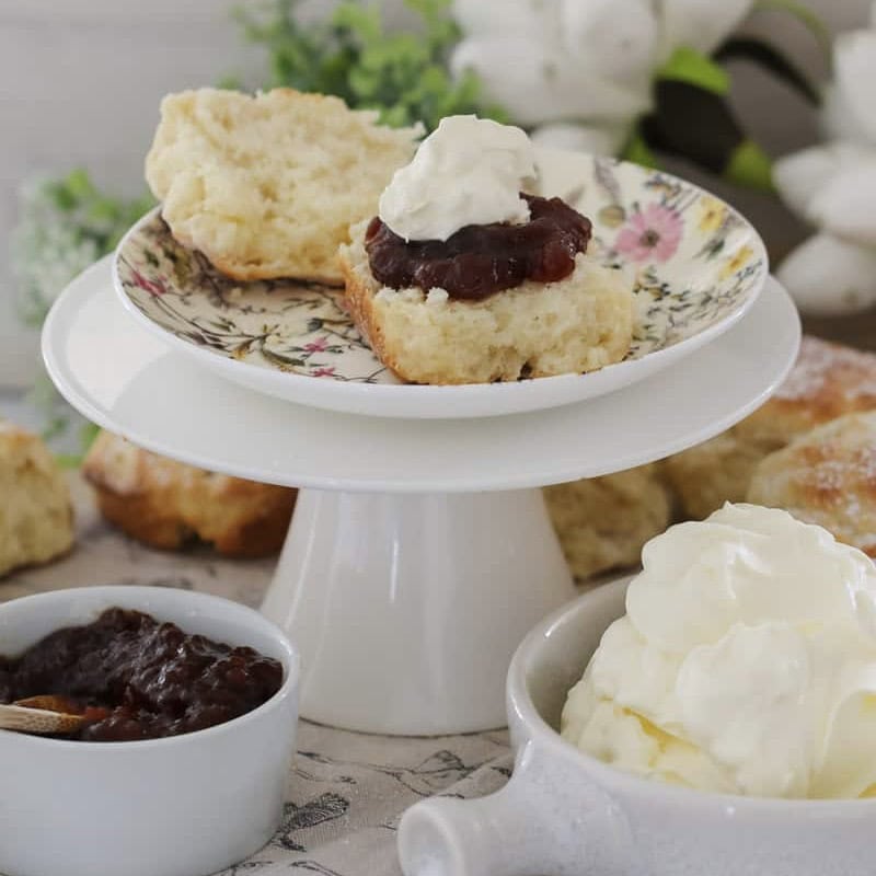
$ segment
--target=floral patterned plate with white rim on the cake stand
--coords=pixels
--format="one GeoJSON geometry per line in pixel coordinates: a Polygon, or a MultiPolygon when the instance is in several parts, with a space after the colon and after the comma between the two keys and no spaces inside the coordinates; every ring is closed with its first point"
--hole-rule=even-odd
{"type": "Polygon", "coordinates": [[[158,208],[119,244],[116,291],[173,349],[252,390],[334,411],[416,418],[538,411],[613,392],[714,339],[753,303],[768,275],[765,250],[724,201],[636,164],[554,149],[538,157],[542,192],[591,219],[588,252],[634,278],[632,347],[624,361],[599,371],[404,384],[356,331],[337,289],[223,277],[174,241],[158,208]]]}

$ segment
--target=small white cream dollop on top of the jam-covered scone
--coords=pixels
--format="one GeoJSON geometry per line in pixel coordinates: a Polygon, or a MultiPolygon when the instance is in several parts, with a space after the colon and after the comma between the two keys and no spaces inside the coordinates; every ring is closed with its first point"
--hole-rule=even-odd
{"type": "Polygon", "coordinates": [[[521,223],[520,189],[535,178],[529,137],[512,125],[447,116],[380,196],[382,222],[404,240],[447,240],[465,226],[521,223]]]}

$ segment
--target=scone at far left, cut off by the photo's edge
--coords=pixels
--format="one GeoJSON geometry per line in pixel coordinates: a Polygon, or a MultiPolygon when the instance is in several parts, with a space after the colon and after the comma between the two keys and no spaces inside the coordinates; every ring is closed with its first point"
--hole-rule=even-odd
{"type": "Polygon", "coordinates": [[[73,544],[64,473],[43,441],[0,422],[0,575],[46,563],[73,544]]]}

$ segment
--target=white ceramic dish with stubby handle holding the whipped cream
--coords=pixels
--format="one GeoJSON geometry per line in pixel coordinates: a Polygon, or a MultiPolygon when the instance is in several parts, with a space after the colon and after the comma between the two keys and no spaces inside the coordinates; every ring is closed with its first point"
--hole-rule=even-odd
{"type": "Polygon", "coordinates": [[[554,729],[566,691],[626,580],[533,630],[508,672],[514,776],[475,800],[431,798],[402,818],[405,876],[872,876],[876,799],[711,794],[613,769],[554,729]]]}

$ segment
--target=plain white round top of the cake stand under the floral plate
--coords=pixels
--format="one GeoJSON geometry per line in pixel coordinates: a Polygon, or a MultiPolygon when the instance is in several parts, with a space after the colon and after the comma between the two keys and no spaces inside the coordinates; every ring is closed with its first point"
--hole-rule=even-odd
{"type": "Polygon", "coordinates": [[[104,260],[58,299],[43,351],[84,416],[158,453],[291,486],[452,493],[597,476],[703,441],[773,392],[799,332],[789,298],[770,280],[722,337],[609,395],[480,419],[364,417],[274,400],[169,353],[123,310],[104,260]]]}

